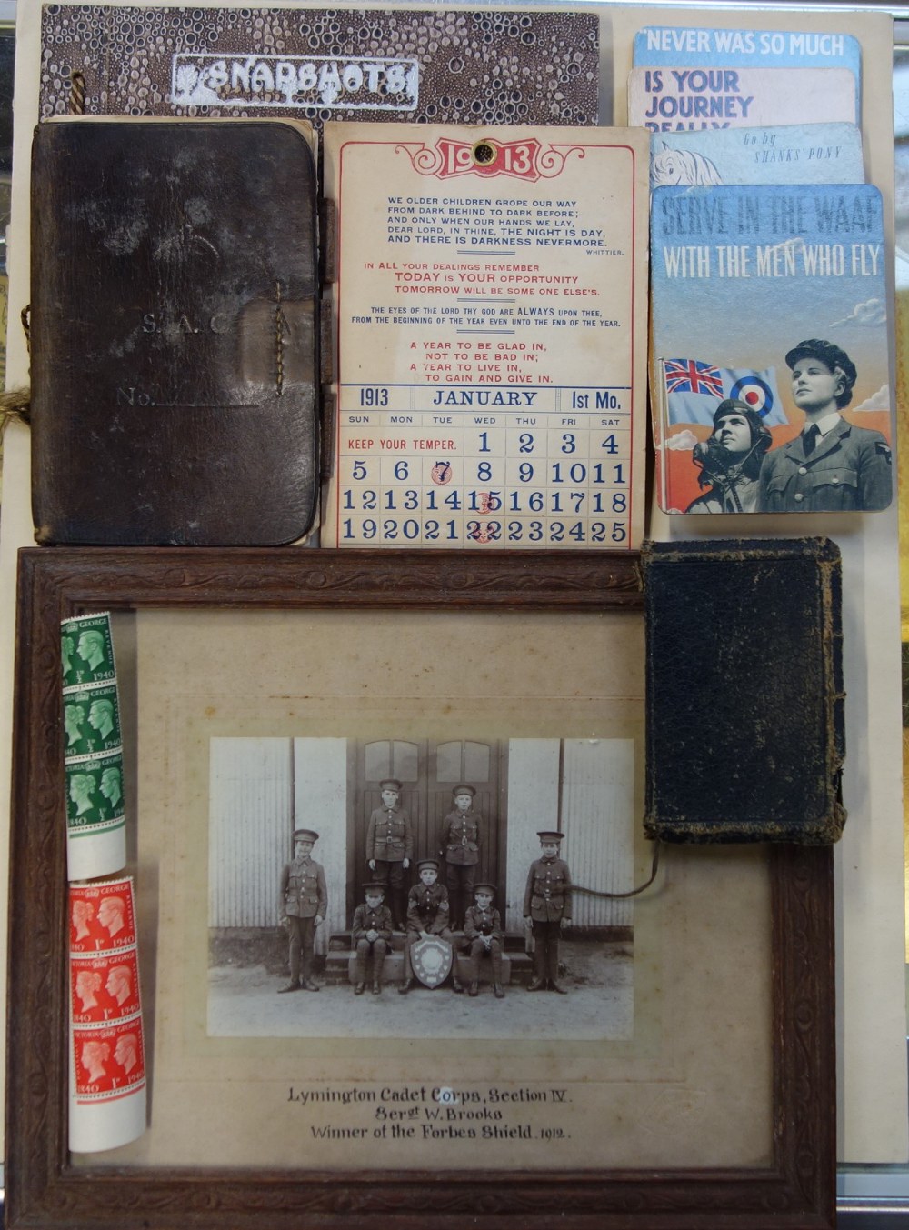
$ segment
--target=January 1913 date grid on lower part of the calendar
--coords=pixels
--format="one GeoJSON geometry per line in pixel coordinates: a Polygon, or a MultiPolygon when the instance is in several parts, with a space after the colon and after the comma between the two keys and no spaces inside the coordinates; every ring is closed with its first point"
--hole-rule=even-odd
{"type": "Polygon", "coordinates": [[[458,395],[342,386],[335,545],[629,545],[627,387],[458,395]]]}

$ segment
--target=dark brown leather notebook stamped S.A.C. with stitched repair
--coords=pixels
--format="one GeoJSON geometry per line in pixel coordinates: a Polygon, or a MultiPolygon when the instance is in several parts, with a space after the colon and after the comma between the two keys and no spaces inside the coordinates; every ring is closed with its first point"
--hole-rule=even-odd
{"type": "Polygon", "coordinates": [[[310,530],[316,246],[308,125],[38,125],[38,542],[263,546],[310,530]]]}

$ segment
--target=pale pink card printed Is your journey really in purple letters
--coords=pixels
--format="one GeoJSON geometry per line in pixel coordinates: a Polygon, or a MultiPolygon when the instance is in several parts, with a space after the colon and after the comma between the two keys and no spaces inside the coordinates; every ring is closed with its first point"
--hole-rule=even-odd
{"type": "Polygon", "coordinates": [[[629,123],[652,133],[856,123],[847,69],[635,68],[629,123]]]}

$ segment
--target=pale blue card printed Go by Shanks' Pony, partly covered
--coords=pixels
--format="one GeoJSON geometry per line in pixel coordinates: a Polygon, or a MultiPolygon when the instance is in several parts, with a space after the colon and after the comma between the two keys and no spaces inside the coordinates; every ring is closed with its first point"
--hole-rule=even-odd
{"type": "Polygon", "coordinates": [[[651,188],[672,183],[862,183],[856,124],[654,133],[651,188]]]}

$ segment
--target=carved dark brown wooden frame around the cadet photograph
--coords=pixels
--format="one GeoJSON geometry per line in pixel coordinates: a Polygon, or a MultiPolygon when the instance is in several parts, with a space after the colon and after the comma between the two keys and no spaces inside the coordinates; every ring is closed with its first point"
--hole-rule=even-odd
{"type": "MultiPolygon", "coordinates": [[[[633,555],[278,550],[41,550],[20,556],[15,699],[6,1216],[11,1228],[597,1225],[832,1226],[834,1221],[833,859],[780,845],[765,916],[747,919],[768,953],[765,1011],[742,1022],[768,1055],[766,1155],[743,1165],[410,1168],[349,1153],[333,1168],[121,1165],[66,1148],[69,1082],[65,807],[60,788],[59,621],[89,611],[375,613],[432,620],[556,614],[566,654],[595,653],[573,630],[600,616],[640,624],[633,555]]],[[[246,617],[241,615],[241,617],[246,617]]],[[[342,647],[343,648],[343,647],[342,647]]],[[[451,669],[450,667],[445,669],[451,669]]],[[[552,668],[556,669],[555,667],[552,668]]],[[[444,678],[444,676],[440,676],[444,678]]],[[[139,744],[141,753],[141,743],[139,744]]],[[[138,823],[141,825],[143,813],[138,823]]],[[[690,857],[674,855],[680,875],[690,857]]],[[[706,856],[721,875],[733,852],[706,856]]],[[[734,863],[733,863],[734,875],[734,863]]],[[[684,878],[684,876],[683,876],[684,878]]],[[[167,886],[161,886],[167,892],[167,886]]],[[[696,910],[693,910],[693,916],[696,910]]],[[[729,914],[732,919],[732,911],[729,914]]],[[[710,934],[699,943],[710,961],[710,934]]],[[[740,979],[748,980],[747,966],[740,979]]],[[[690,988],[693,995],[697,989],[690,988]]],[[[437,993],[432,993],[437,994],[437,993]]],[[[510,994],[510,993],[509,993],[510,994]]],[[[515,991],[514,994],[518,994],[515,991]]],[[[292,996],[299,1000],[300,996],[292,996]]],[[[552,998],[556,999],[555,996],[552,998]]],[[[507,1002],[507,1001],[506,1001],[507,1002]]],[[[570,1001],[568,1001],[570,1002],[570,1001]]],[[[709,1022],[704,1022],[709,1031],[709,1022]]],[[[557,1039],[554,1039],[557,1043],[557,1039]]],[[[695,1039],[685,1039],[694,1046],[695,1039]]],[[[734,1082],[731,1082],[734,1084],[734,1082]]],[[[151,1114],[156,1091],[151,1085],[151,1114]]],[[[731,1091],[734,1095],[734,1090],[731,1091]]],[[[643,1106],[643,1103],[642,1103],[643,1106]]],[[[652,1103],[648,1103],[652,1106],[652,1103]]],[[[642,1109],[642,1114],[652,1109],[642,1109]]],[[[749,1106],[738,1106],[748,1117],[749,1106]]],[[[570,1156],[570,1155],[568,1155],[570,1156]]]]}

